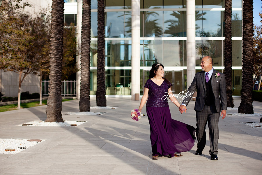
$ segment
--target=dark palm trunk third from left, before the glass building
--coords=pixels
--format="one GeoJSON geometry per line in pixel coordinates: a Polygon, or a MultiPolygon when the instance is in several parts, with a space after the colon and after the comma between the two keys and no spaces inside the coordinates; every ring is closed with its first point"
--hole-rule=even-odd
{"type": "Polygon", "coordinates": [[[97,1],[97,91],[96,105],[107,106],[105,97],[105,1],[97,1]]]}

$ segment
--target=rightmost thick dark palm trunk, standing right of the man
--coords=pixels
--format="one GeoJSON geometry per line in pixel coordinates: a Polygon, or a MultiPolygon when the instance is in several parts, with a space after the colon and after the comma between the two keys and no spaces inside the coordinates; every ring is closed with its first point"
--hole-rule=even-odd
{"type": "Polygon", "coordinates": [[[242,89],[239,113],[253,114],[253,0],[243,3],[243,59],[242,59],[242,89]]]}

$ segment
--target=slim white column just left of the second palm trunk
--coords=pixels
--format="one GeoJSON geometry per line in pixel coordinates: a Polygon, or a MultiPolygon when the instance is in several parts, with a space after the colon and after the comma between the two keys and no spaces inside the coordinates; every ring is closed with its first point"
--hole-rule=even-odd
{"type": "Polygon", "coordinates": [[[82,6],[83,1],[77,0],[77,99],[80,99],[80,79],[81,79],[81,71],[80,71],[80,63],[81,63],[81,31],[82,31],[82,6]]]}

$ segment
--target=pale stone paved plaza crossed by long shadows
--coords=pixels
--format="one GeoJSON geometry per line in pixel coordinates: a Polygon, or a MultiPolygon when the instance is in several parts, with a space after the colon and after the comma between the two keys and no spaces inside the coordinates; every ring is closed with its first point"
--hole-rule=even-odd
{"type": "MultiPolygon", "coordinates": [[[[78,112],[78,100],[63,102],[63,111],[78,112]]],[[[236,107],[240,99],[235,99],[236,107]]],[[[219,121],[219,160],[211,160],[209,138],[201,156],[197,146],[182,157],[152,160],[150,129],[147,117],[134,121],[130,110],[140,101],[107,98],[108,106],[117,109],[104,115],[63,115],[64,120],[86,120],[77,127],[16,126],[33,120],[45,120],[46,106],[0,113],[0,138],[46,139],[17,154],[0,154],[1,174],[261,174],[262,129],[241,122],[258,122],[261,117],[227,116],[219,121]],[[80,118],[79,118],[80,117],[80,118]]],[[[262,113],[262,103],[254,101],[254,112],[262,113]]],[[[91,98],[91,106],[96,106],[91,98]]],[[[172,118],[196,125],[194,101],[187,113],[179,114],[170,104],[172,118]]],[[[144,107],[142,113],[145,113],[144,107]]],[[[228,110],[227,112],[237,112],[228,110]]],[[[206,130],[208,135],[208,129],[206,130]]]]}

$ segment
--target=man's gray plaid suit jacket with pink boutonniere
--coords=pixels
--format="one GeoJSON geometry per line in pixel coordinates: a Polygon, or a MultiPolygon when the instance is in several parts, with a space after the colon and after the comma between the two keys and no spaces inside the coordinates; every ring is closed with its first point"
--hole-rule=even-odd
{"type": "MultiPolygon", "coordinates": [[[[195,103],[195,111],[202,111],[206,101],[206,84],[205,84],[205,71],[201,71],[195,74],[195,77],[188,88],[187,92],[194,92],[197,90],[197,97],[195,103]]],[[[215,106],[217,112],[221,110],[226,110],[226,79],[225,75],[221,72],[218,72],[214,69],[211,79],[212,91],[215,96],[215,106]],[[219,73],[220,76],[216,78],[215,74],[219,73]],[[219,98],[220,95],[220,98],[219,98]]],[[[189,94],[188,93],[188,94],[189,94]]],[[[191,95],[193,96],[193,95],[191,95]]],[[[183,100],[183,104],[187,105],[190,101],[191,97],[186,97],[183,100]]]]}

